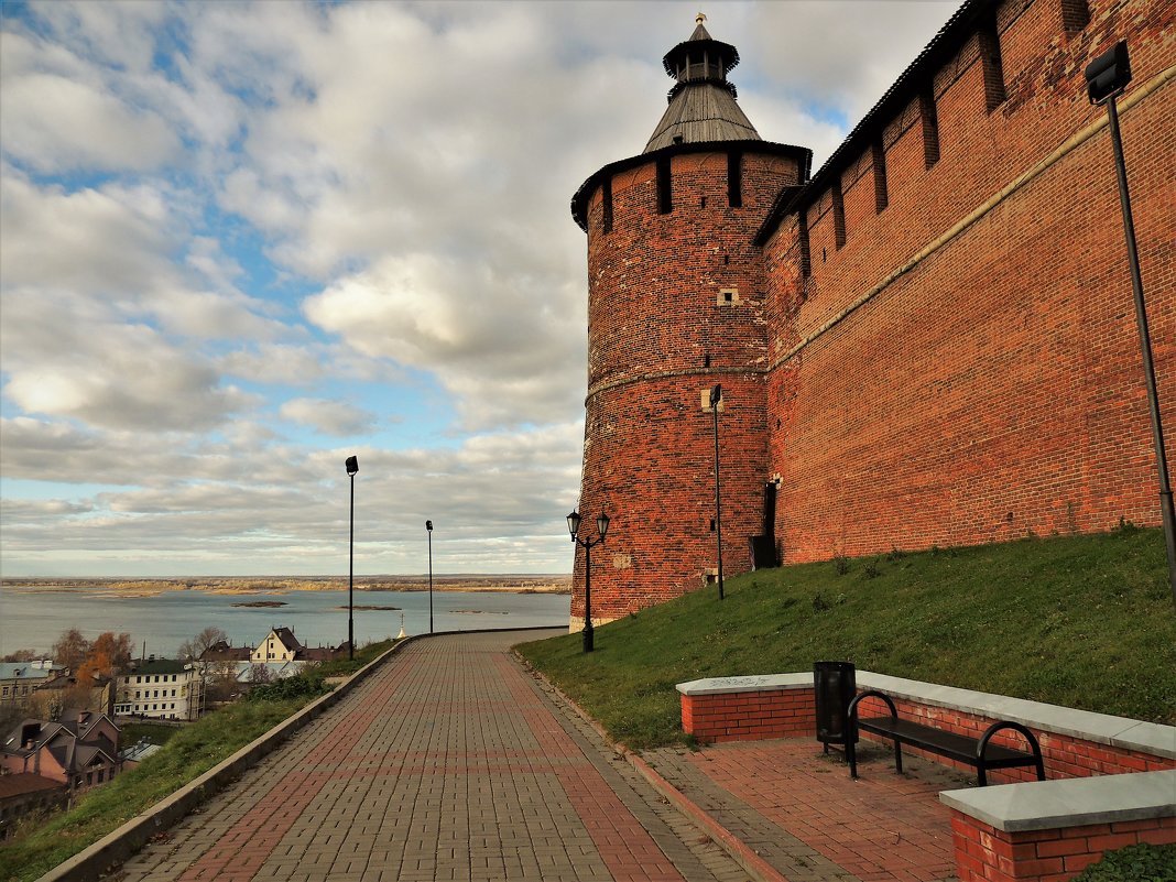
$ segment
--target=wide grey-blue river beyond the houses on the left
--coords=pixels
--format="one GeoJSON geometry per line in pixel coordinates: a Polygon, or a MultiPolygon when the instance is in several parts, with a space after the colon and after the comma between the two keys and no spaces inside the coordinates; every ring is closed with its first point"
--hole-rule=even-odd
{"type": "MultiPolygon", "coordinates": [[[[429,630],[428,592],[355,592],[355,644],[396,636],[401,614],[407,634],[429,630]],[[360,609],[396,607],[396,609],[360,609]]],[[[434,630],[567,626],[567,594],[515,592],[433,592],[434,630]]],[[[176,647],[209,626],[221,628],[234,646],[256,646],[270,627],[287,627],[303,646],[339,646],[347,640],[347,592],[212,594],[162,592],[120,596],[111,590],[36,590],[0,587],[0,655],[18,649],[45,652],[61,632],[78,628],[93,640],[102,632],[128,633],[135,654],[172,657],[176,647]],[[234,607],[275,601],[281,607],[234,607]]]]}

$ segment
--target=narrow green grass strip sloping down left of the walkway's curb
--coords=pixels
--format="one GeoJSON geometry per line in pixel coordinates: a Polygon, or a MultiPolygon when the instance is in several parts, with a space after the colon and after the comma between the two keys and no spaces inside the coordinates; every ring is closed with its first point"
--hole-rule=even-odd
{"type": "MultiPolygon", "coordinates": [[[[362,647],[356,650],[354,661],[330,662],[312,669],[308,676],[290,677],[302,683],[285,687],[279,696],[229,704],[191,726],[172,730],[174,734],[163,749],[147,757],[139,768],[86,791],[69,811],[56,813],[45,822],[26,823],[13,840],[0,846],[0,880],[27,882],[38,878],[308,704],[326,691],[323,676],[358,670],[390,647],[392,641],[362,647]]],[[[123,746],[134,743],[127,741],[128,730],[161,728],[128,726],[120,734],[120,742],[123,746]]],[[[136,735],[140,736],[141,733],[136,735]]]]}

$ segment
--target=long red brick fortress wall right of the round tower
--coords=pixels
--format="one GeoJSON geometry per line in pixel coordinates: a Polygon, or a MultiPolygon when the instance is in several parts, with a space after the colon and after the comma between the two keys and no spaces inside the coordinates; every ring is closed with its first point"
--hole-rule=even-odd
{"type": "Polygon", "coordinates": [[[911,100],[878,135],[886,207],[863,149],[803,206],[808,278],[797,215],[768,242],[769,468],[783,479],[786,560],[1160,522],[1111,145],[1105,127],[1085,136],[1107,112],[1089,105],[1082,72],[1129,41],[1121,122],[1172,450],[1176,7],[1088,8],[1068,32],[1061,0],[1001,4],[1005,100],[985,109],[973,35],[934,78],[938,161],[927,167],[911,100]]]}

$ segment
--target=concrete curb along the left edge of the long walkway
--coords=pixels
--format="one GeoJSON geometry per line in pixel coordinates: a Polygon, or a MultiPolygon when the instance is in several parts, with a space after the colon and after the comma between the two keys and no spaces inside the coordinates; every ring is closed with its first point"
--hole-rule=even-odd
{"type": "Polygon", "coordinates": [[[428,635],[405,637],[388,652],[363,666],[334,690],[315,699],[293,716],[282,720],[273,729],[260,735],[242,747],[227,760],[208,769],[195,781],[185,784],[174,794],[148,808],[141,815],[131,818],[116,830],[108,833],[94,844],[73,857],[59,863],[36,882],[87,882],[99,878],[111,868],[121,864],[151,838],[176,821],[188,815],[200,803],[238,777],[246,769],[255,766],[262,757],[278,748],[286,739],[318,717],[322,711],[336,704],[347,693],[355,688],[375,668],[387,661],[400,648],[414,640],[428,635]]]}

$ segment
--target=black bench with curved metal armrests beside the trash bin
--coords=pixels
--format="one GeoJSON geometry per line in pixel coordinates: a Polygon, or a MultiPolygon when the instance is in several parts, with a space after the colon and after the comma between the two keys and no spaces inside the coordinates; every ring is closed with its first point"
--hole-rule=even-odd
{"type": "Polygon", "coordinates": [[[910,720],[900,720],[890,696],[874,689],[862,693],[849,703],[848,716],[849,739],[846,743],[846,759],[849,760],[850,777],[857,777],[857,750],[854,746],[857,731],[869,731],[894,741],[894,767],[898,774],[902,774],[902,746],[909,744],[974,767],[981,787],[988,783],[989,769],[1009,769],[1021,766],[1036,766],[1037,780],[1045,780],[1045,764],[1042,761],[1041,746],[1034,734],[1021,723],[995,722],[978,739],[957,735],[954,731],[944,731],[910,720]],[[890,716],[873,716],[860,720],[857,706],[864,699],[881,699],[890,709],[890,716]],[[1021,733],[1029,742],[1031,753],[990,744],[989,740],[993,735],[1002,729],[1015,729],[1021,733]]]}

